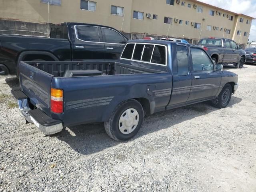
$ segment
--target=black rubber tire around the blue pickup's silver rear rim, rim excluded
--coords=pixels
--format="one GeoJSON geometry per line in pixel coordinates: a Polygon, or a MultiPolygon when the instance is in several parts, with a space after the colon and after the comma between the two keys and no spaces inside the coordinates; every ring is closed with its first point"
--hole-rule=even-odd
{"type": "Polygon", "coordinates": [[[144,118],[144,111],[141,104],[134,99],[126,100],[118,104],[118,106],[112,112],[110,118],[108,118],[108,120],[104,122],[104,127],[108,136],[110,136],[112,139],[116,141],[129,140],[130,138],[134,137],[140,130],[140,127],[142,126],[143,118],[144,118]],[[132,130],[131,133],[123,134],[119,128],[119,120],[121,118],[121,115],[130,108],[137,110],[139,115],[138,124],[135,127],[135,129],[132,130]]]}

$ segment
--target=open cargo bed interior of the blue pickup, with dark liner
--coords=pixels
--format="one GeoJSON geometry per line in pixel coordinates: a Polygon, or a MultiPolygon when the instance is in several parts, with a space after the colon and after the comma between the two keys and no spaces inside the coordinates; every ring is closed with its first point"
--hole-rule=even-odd
{"type": "MultiPolygon", "coordinates": [[[[111,62],[61,62],[61,61],[28,61],[24,62],[55,77],[100,76],[115,74],[161,73],[164,71],[111,62]]],[[[145,64],[148,65],[148,64],[145,64]]]]}

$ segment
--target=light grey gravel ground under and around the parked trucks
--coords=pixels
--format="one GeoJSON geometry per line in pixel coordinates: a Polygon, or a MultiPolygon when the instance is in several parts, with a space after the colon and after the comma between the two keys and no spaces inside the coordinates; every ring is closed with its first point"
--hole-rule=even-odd
{"type": "Polygon", "coordinates": [[[224,69],[240,84],[227,108],[204,102],[148,116],[127,142],[103,124],[44,136],[10,96],[18,81],[1,76],[0,192],[255,192],[256,66],[224,69]]]}

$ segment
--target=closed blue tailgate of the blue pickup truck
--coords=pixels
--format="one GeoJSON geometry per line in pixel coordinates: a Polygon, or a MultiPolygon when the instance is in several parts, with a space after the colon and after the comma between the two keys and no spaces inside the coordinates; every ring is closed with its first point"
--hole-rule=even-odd
{"type": "Polygon", "coordinates": [[[20,62],[20,87],[30,103],[50,115],[50,90],[52,74],[48,74],[26,62],[20,62]]]}

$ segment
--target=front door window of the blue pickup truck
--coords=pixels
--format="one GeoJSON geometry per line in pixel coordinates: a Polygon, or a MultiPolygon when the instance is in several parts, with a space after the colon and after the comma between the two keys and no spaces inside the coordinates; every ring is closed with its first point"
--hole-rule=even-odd
{"type": "Polygon", "coordinates": [[[214,70],[212,61],[202,49],[190,48],[190,51],[191,51],[194,71],[214,70]]]}

